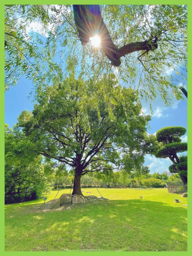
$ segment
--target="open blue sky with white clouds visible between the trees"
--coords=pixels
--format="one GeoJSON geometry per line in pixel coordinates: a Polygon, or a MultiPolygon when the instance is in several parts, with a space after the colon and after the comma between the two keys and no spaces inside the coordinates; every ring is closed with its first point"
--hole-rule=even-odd
{"type": "MultiPolygon", "coordinates": [[[[32,22],[29,27],[29,33],[31,29],[34,32],[39,32],[42,28],[37,22],[32,22]]],[[[181,77],[173,69],[167,70],[167,74],[173,75],[174,78],[181,81],[181,77]]],[[[179,85],[182,85],[182,83],[179,85]]],[[[13,127],[17,122],[17,117],[22,110],[33,110],[33,103],[27,98],[31,91],[31,81],[21,77],[16,86],[5,92],[5,123],[8,123],[10,127],[13,127]]],[[[144,101],[142,105],[145,114],[151,114],[149,105],[144,101]]],[[[183,126],[187,129],[187,100],[173,101],[172,107],[165,107],[164,101],[158,95],[157,99],[152,103],[152,107],[154,115],[149,122],[150,129],[148,129],[148,133],[154,134],[166,126],[183,126]]],[[[187,132],[182,136],[182,141],[187,142],[187,132]]],[[[169,171],[168,167],[171,165],[169,159],[158,159],[151,155],[146,155],[145,159],[145,165],[149,166],[151,173],[169,171]]]]}

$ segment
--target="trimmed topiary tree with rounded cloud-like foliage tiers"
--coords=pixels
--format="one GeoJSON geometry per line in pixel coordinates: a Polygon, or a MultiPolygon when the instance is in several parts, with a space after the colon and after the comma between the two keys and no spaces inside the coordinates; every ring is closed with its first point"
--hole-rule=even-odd
{"type": "Polygon", "coordinates": [[[181,126],[169,126],[157,131],[156,137],[162,146],[155,154],[157,158],[170,158],[173,164],[169,171],[178,173],[184,185],[187,184],[187,156],[178,156],[177,153],[187,151],[187,143],[180,139],[185,133],[186,129],[181,126]]]}

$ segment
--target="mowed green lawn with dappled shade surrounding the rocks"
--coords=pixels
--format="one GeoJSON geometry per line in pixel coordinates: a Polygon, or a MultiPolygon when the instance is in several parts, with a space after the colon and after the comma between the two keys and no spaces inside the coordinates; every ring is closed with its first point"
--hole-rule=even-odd
{"type": "MultiPolygon", "coordinates": [[[[82,190],[100,197],[96,188],[82,190]]],[[[187,198],[165,188],[99,191],[110,201],[54,210],[41,210],[42,199],[5,205],[5,251],[187,251],[187,198]]],[[[70,189],[56,198],[63,193],[70,189]]]]}

